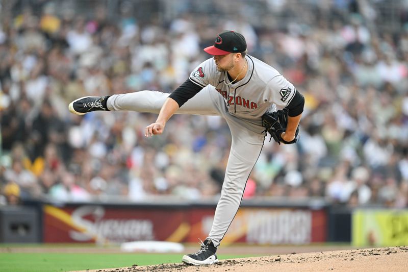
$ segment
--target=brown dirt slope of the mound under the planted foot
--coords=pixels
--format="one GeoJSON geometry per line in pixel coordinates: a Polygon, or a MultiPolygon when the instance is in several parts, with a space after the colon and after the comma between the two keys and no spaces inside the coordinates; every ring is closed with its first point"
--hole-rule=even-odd
{"type": "MultiPolygon", "coordinates": [[[[408,246],[287,254],[222,260],[209,266],[182,263],[87,270],[86,272],[408,271],[408,246]]],[[[85,272],[85,271],[83,271],[85,272]]]]}

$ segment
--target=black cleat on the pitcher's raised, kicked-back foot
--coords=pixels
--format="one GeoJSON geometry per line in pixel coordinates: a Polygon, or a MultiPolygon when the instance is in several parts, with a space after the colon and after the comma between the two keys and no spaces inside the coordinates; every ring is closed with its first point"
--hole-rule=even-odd
{"type": "Polygon", "coordinates": [[[91,111],[109,111],[106,107],[106,101],[109,96],[84,96],[69,103],[70,112],[84,115],[91,111]]]}

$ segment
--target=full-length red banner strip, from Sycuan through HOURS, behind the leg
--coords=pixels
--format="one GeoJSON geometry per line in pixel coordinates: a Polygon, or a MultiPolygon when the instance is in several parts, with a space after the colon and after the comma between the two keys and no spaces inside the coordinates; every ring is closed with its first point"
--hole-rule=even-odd
{"type": "MultiPolygon", "coordinates": [[[[211,230],[215,207],[44,206],[44,242],[197,242],[211,230]]],[[[325,210],[241,208],[223,244],[307,244],[326,241],[325,210]]]]}

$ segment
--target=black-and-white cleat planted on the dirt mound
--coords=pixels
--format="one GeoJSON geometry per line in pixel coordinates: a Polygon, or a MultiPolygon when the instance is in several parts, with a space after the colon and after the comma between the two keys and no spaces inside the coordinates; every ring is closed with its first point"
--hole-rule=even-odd
{"type": "MultiPolygon", "coordinates": [[[[200,240],[201,241],[201,240],[200,240]]],[[[183,256],[182,261],[187,264],[193,265],[208,265],[218,262],[217,255],[213,242],[209,239],[204,242],[201,241],[201,248],[199,251],[193,254],[187,254],[183,256]]]]}

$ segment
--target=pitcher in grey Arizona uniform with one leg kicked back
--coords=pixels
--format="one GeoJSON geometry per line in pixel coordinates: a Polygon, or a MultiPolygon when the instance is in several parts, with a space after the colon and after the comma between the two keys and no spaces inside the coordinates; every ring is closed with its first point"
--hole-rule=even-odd
{"type": "Polygon", "coordinates": [[[232,146],[220,200],[208,237],[196,253],[182,261],[193,265],[217,263],[217,248],[230,227],[249,174],[269,132],[279,144],[296,142],[304,98],[277,70],[247,55],[245,38],[234,31],[217,35],[204,49],[212,55],[171,94],[139,91],[112,96],[81,97],[69,104],[75,114],[95,110],[159,113],[145,136],[162,134],[173,114],[220,115],[231,130],[232,146]],[[283,110],[276,110],[276,107],[283,110]]]}

